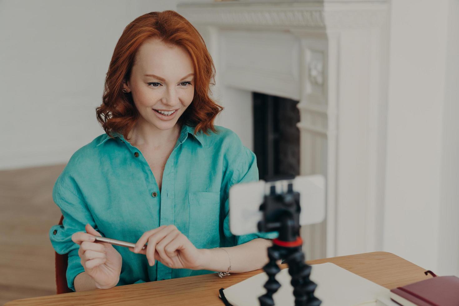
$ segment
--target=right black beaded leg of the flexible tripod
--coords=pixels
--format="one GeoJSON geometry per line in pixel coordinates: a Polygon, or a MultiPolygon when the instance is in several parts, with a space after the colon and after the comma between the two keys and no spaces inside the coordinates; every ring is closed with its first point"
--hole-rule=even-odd
{"type": "Polygon", "coordinates": [[[311,266],[306,264],[301,247],[291,248],[287,256],[289,274],[291,275],[291,285],[295,296],[296,306],[319,306],[322,302],[314,296],[317,287],[309,276],[311,266]]]}

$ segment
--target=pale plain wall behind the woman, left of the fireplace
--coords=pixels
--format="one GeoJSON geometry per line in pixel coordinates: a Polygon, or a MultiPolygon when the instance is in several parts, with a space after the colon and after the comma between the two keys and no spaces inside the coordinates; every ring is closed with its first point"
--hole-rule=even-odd
{"type": "Polygon", "coordinates": [[[124,27],[191,1],[0,1],[0,170],[66,163],[104,133],[95,107],[124,27]]]}

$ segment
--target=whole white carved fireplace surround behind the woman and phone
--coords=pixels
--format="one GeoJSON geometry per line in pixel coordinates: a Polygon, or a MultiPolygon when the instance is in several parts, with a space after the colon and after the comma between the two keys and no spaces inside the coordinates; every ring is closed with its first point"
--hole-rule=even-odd
{"type": "Polygon", "coordinates": [[[326,221],[302,228],[308,258],[380,250],[386,0],[235,1],[179,4],[177,11],[213,57],[222,125],[247,146],[251,92],[300,101],[300,173],[327,178],[326,221]]]}

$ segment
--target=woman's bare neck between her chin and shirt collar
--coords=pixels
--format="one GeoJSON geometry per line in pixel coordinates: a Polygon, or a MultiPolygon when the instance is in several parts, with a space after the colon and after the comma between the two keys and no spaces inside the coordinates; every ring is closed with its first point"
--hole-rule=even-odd
{"type": "Polygon", "coordinates": [[[160,130],[148,122],[137,122],[134,128],[129,132],[128,138],[131,145],[159,147],[179,139],[181,127],[178,123],[168,130],[160,130]]]}

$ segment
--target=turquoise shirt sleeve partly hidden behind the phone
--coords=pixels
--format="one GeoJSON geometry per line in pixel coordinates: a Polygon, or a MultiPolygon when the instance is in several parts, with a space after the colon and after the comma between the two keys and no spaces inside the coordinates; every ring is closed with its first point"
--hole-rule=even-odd
{"type": "MultiPolygon", "coordinates": [[[[229,188],[231,188],[234,184],[239,183],[248,183],[248,182],[257,182],[258,181],[258,167],[257,167],[257,157],[255,154],[246,147],[243,147],[243,150],[239,156],[237,156],[236,164],[232,167],[234,168],[233,176],[231,178],[229,188]]],[[[261,204],[261,203],[260,203],[261,204]]],[[[233,235],[229,230],[229,197],[225,200],[225,213],[226,216],[224,218],[223,223],[223,231],[224,235],[229,239],[235,239],[235,245],[241,245],[246,242],[249,242],[255,238],[263,238],[263,239],[274,239],[276,238],[279,233],[275,232],[268,232],[268,233],[252,233],[246,235],[233,235]]]]}

